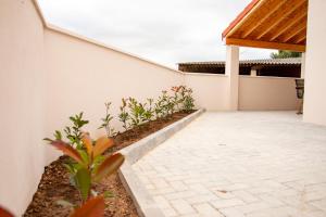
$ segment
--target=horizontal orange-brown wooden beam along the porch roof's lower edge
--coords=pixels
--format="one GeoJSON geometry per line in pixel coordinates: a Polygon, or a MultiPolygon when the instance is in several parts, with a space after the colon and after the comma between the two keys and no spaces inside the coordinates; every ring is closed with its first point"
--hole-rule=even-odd
{"type": "Polygon", "coordinates": [[[238,39],[238,38],[226,38],[226,44],[251,47],[251,48],[289,50],[289,51],[297,51],[297,52],[305,51],[305,46],[301,46],[301,44],[247,40],[247,39],[238,39]]]}

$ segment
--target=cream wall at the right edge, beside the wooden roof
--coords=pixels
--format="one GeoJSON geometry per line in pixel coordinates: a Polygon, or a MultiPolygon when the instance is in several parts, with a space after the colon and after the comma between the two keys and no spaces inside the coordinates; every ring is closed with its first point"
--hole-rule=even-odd
{"type": "Polygon", "coordinates": [[[303,119],[321,125],[326,125],[325,11],[325,0],[309,1],[303,119]]]}

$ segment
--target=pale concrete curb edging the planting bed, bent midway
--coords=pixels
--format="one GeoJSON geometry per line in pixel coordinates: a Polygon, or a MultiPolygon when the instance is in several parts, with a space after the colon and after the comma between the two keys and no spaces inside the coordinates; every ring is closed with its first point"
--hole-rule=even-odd
{"type": "Polygon", "coordinates": [[[133,170],[133,164],[138,162],[149,151],[171,138],[174,133],[186,127],[189,123],[204,113],[204,111],[205,110],[199,110],[120,151],[120,153],[125,155],[126,161],[118,169],[118,176],[125,189],[128,191],[129,195],[131,195],[139,216],[164,217],[164,214],[133,170]]]}

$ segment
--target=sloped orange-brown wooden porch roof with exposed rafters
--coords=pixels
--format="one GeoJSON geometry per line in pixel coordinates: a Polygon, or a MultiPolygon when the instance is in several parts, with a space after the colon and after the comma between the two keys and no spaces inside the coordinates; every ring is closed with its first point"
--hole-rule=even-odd
{"type": "Polygon", "coordinates": [[[226,44],[304,52],[308,0],[253,0],[223,31],[226,44]]]}

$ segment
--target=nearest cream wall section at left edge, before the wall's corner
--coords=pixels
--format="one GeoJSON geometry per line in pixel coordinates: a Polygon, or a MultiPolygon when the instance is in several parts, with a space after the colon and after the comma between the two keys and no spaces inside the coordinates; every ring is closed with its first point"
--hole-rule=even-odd
{"type": "Polygon", "coordinates": [[[0,204],[25,210],[43,171],[43,26],[30,0],[0,3],[0,204]]]}

